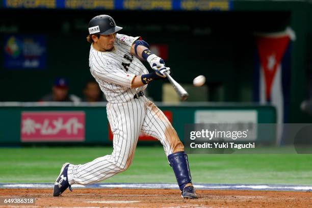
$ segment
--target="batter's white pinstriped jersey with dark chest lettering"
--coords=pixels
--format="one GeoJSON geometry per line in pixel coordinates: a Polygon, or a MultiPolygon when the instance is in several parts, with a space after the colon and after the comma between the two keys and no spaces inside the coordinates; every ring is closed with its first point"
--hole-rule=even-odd
{"type": "Polygon", "coordinates": [[[131,89],[136,75],[148,73],[142,62],[131,55],[131,46],[139,37],[116,34],[114,49],[98,51],[91,44],[89,66],[99,87],[111,103],[127,102],[134,99],[136,92],[147,85],[131,89]]]}

